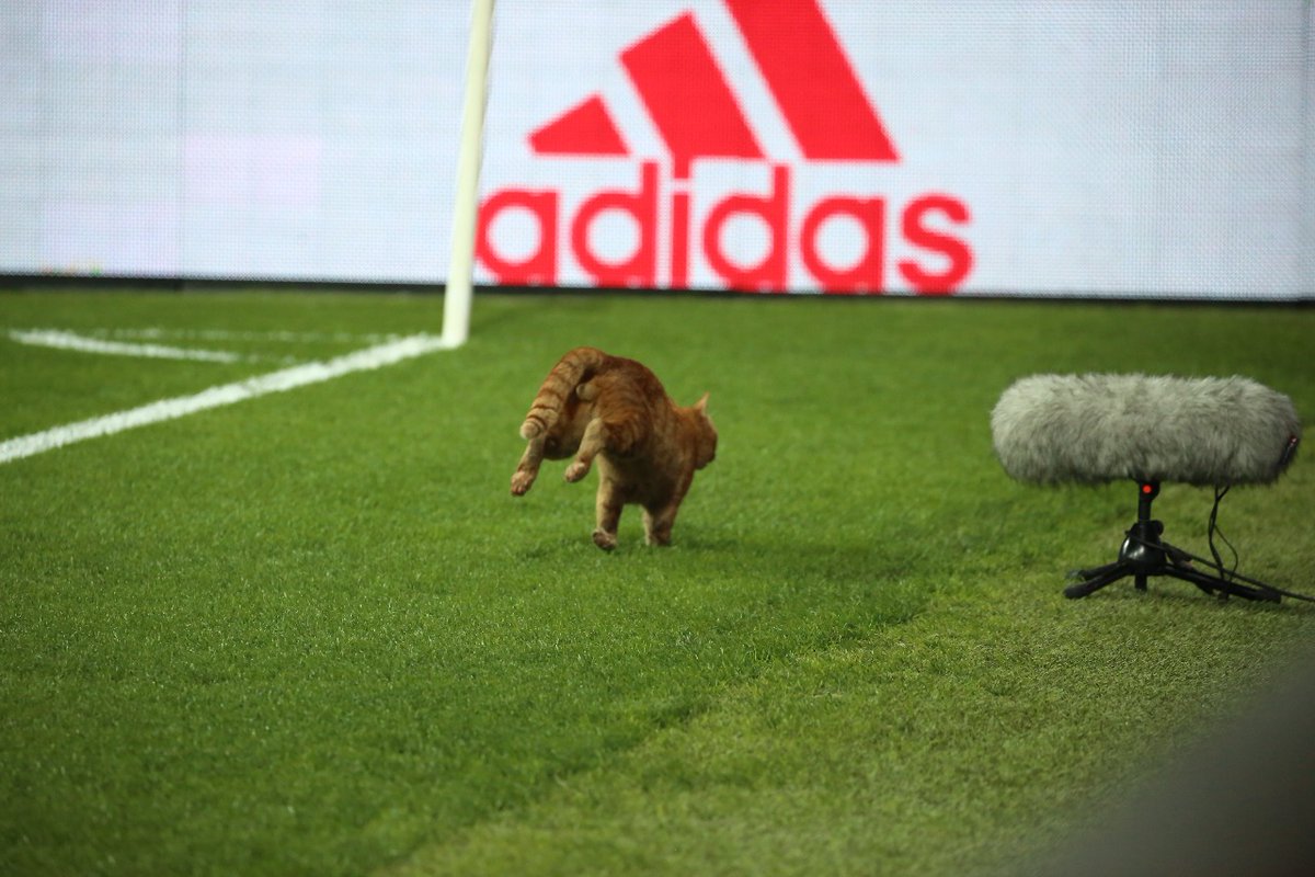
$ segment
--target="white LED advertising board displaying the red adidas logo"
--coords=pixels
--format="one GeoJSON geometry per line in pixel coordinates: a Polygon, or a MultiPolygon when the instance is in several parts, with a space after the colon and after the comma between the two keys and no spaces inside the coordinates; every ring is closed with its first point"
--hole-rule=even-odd
{"type": "MultiPolygon", "coordinates": [[[[0,273],[444,280],[469,8],[8,0],[0,273]]],[[[1312,297],[1303,0],[500,0],[476,280],[1312,297]]]]}

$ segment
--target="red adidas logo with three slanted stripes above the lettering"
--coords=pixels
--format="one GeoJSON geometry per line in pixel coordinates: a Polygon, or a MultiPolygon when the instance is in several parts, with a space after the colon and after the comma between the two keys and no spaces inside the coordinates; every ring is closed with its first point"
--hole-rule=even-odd
{"type": "MultiPolygon", "coordinates": [[[[814,162],[899,163],[894,141],[817,0],[725,0],[725,7],[798,145],[802,171],[814,162]]],[[[910,254],[893,266],[897,283],[911,291],[951,293],[970,273],[973,251],[961,237],[970,213],[952,195],[934,191],[897,204],[880,193],[836,192],[796,214],[793,178],[801,168],[765,154],[693,13],[634,42],[618,59],[668,156],[635,156],[598,93],[533,130],[529,146],[537,156],[638,158],[638,180],[633,189],[602,189],[573,205],[555,188],[492,192],[480,206],[476,258],[498,283],[559,284],[565,245],[579,272],[600,287],[689,287],[693,260],[701,258],[704,275],[729,289],[798,288],[790,283],[797,260],[806,272],[803,285],[830,293],[880,293],[888,288],[892,233],[910,254]],[[765,163],[768,191],[719,192],[696,217],[692,195],[698,191],[706,201],[694,172],[701,159],[765,163]],[[538,226],[538,246],[529,254],[504,255],[492,239],[505,212],[525,212],[538,226]],[[629,217],[636,231],[622,258],[598,254],[592,242],[596,224],[610,213],[629,217]],[[846,264],[828,262],[819,247],[832,221],[861,230],[864,238],[859,256],[846,264]],[[731,222],[761,229],[767,243],[759,258],[746,263],[727,254],[723,233],[731,222]],[[659,238],[668,245],[661,254],[659,238]]]]}

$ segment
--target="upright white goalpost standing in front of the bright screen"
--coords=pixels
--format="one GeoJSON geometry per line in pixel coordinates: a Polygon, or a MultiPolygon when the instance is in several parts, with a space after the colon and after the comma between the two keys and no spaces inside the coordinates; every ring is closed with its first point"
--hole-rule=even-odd
{"type": "Polygon", "coordinates": [[[443,343],[460,347],[471,333],[475,224],[484,153],[484,97],[493,37],[493,0],[472,0],[471,41],[466,54],[462,145],[456,154],[456,197],[452,205],[452,256],[443,293],[443,343]]]}

